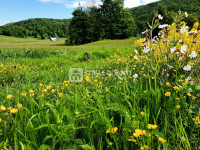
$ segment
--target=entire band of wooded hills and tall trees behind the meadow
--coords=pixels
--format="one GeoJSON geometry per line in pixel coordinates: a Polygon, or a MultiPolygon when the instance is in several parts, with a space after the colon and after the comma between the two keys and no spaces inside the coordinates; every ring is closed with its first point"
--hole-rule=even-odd
{"type": "Polygon", "coordinates": [[[76,9],[72,19],[37,18],[0,26],[0,35],[33,36],[39,39],[67,37],[67,44],[73,45],[136,36],[148,28],[147,22],[151,22],[156,11],[164,17],[162,24],[172,23],[173,14],[179,9],[189,13],[188,18],[185,18],[188,26],[192,27],[194,22],[200,20],[199,0],[160,0],[131,9],[122,8],[123,0],[102,2],[98,8],[76,9]]]}

